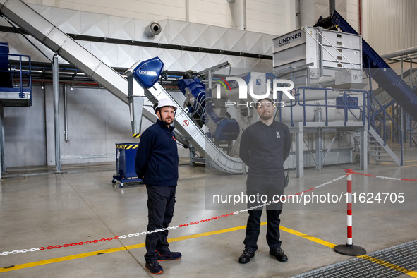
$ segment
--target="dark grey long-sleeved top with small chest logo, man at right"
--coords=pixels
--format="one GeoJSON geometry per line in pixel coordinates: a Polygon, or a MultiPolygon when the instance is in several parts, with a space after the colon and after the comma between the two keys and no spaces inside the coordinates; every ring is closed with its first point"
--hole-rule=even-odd
{"type": "Polygon", "coordinates": [[[278,121],[270,126],[257,121],[243,131],[239,156],[248,165],[248,174],[276,175],[284,172],[290,148],[288,126],[278,121]]]}

